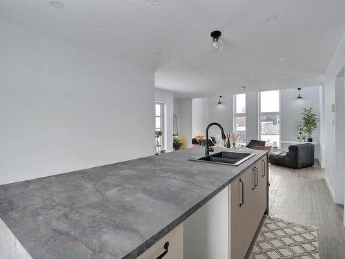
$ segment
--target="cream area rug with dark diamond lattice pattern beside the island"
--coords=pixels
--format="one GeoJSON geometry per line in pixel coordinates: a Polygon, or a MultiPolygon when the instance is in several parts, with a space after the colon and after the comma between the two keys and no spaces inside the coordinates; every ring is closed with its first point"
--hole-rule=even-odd
{"type": "Polygon", "coordinates": [[[317,228],[267,216],[249,258],[319,259],[317,228]]]}

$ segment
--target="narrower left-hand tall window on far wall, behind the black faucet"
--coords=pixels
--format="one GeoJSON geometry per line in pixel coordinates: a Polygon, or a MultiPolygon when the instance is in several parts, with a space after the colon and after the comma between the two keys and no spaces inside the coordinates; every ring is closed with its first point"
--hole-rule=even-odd
{"type": "Polygon", "coordinates": [[[239,142],[246,144],[246,94],[234,95],[234,128],[239,133],[239,142]]]}

